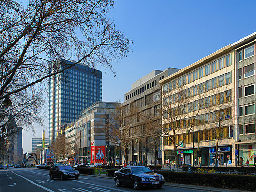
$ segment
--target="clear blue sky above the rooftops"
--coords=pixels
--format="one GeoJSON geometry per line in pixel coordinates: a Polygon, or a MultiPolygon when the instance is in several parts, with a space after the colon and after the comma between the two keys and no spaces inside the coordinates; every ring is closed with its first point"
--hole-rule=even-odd
{"type": "MultiPolygon", "coordinates": [[[[256,1],[152,1],[118,0],[109,17],[132,39],[132,52],[113,63],[116,78],[102,70],[102,100],[124,101],[131,84],[152,70],[184,68],[216,50],[256,31],[256,1]]],[[[46,104],[47,105],[47,104],[46,104]]],[[[48,113],[48,107],[45,107],[48,113]]],[[[23,149],[31,150],[31,137],[23,132],[23,149]]]]}

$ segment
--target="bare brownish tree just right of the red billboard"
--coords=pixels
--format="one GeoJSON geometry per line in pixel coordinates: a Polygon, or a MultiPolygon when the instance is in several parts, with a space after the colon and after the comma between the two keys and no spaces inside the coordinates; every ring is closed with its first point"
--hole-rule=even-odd
{"type": "Polygon", "coordinates": [[[104,132],[110,143],[119,146],[124,151],[125,161],[127,163],[129,147],[138,131],[137,127],[134,127],[134,124],[137,122],[139,114],[133,106],[119,105],[111,115],[112,118],[109,118],[104,132]]]}

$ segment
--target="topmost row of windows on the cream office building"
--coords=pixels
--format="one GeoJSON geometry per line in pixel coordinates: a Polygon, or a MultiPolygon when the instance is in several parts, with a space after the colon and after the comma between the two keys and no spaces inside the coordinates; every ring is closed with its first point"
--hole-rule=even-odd
{"type": "Polygon", "coordinates": [[[181,85],[188,84],[190,82],[193,82],[196,79],[199,79],[201,77],[204,77],[206,75],[209,75],[211,73],[216,72],[216,70],[220,70],[224,67],[229,66],[230,63],[230,55],[227,55],[225,57],[222,57],[218,60],[216,60],[213,63],[210,63],[206,66],[201,67],[198,70],[195,70],[194,72],[189,73],[188,75],[185,75],[179,79],[174,80],[173,82],[164,85],[164,90],[172,90],[176,87],[179,87],[181,85]]]}

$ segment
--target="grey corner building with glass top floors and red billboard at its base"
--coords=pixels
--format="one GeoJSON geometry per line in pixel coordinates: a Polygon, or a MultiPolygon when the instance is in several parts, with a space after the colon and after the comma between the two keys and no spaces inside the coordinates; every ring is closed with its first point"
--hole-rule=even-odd
{"type": "MultiPolygon", "coordinates": [[[[115,146],[104,132],[119,103],[96,102],[83,110],[75,122],[78,159],[80,162],[106,163],[114,161],[115,146]]],[[[119,124],[116,123],[118,127],[119,124]]]]}

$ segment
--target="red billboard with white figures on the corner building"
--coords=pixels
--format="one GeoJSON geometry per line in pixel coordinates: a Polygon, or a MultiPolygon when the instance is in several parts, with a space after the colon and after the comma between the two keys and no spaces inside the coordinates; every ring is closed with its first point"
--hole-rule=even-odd
{"type": "Polygon", "coordinates": [[[91,162],[106,163],[106,146],[91,146],[91,162]]]}

